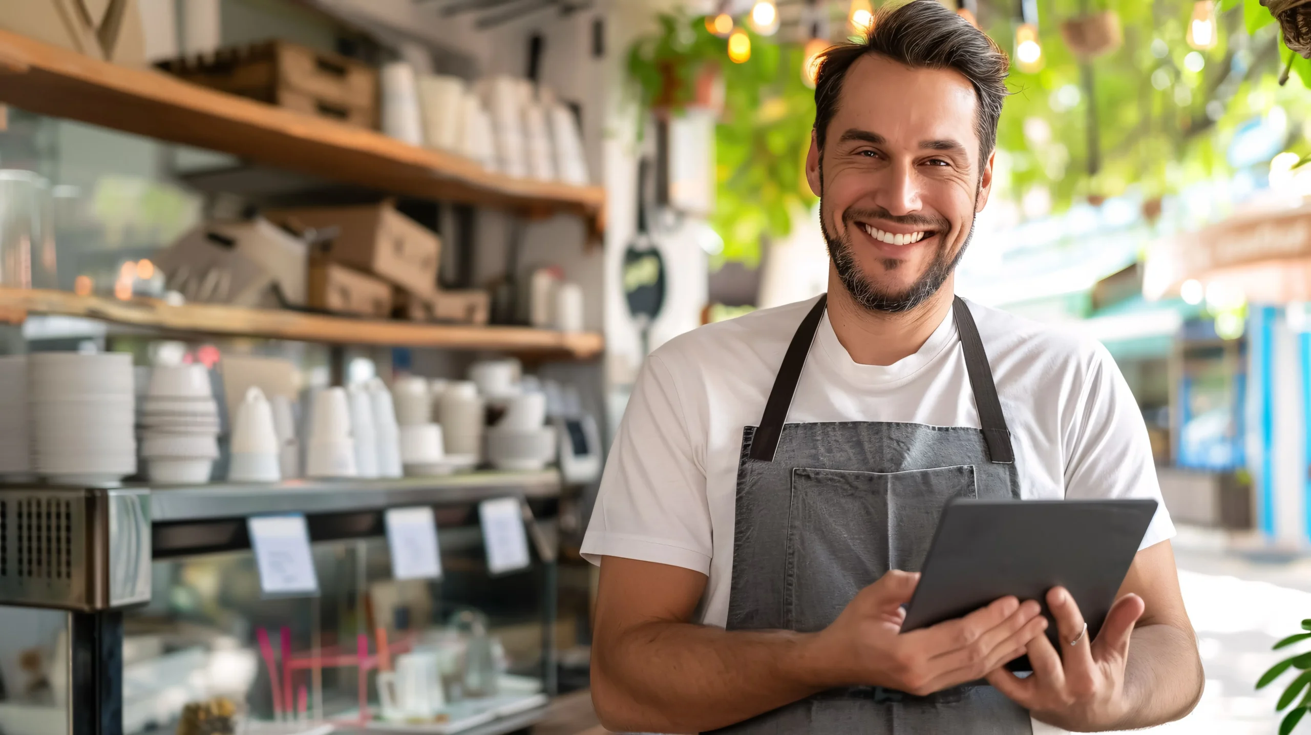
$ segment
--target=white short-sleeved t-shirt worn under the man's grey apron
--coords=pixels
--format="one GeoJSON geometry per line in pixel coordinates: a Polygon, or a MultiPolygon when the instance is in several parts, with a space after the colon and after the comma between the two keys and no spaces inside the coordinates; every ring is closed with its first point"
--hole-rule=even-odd
{"type": "MultiPolygon", "coordinates": [[[[606,461],[582,554],[627,557],[709,576],[700,621],[724,626],[742,428],[756,426],[793,333],[814,300],[676,337],[646,360],[606,461]]],[[[1154,498],[1138,404],[1099,342],[969,304],[1015,447],[1020,497],[1154,498]]],[[[910,422],[979,427],[950,311],[914,355],[856,363],[827,314],[788,423],[910,422]]],[[[1175,535],[1160,504],[1142,548],[1175,535]]]]}

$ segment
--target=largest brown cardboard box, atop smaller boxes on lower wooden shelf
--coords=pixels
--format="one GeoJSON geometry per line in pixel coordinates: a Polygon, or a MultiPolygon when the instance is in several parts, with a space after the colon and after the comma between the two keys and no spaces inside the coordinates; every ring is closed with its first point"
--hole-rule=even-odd
{"type": "Polygon", "coordinates": [[[363,207],[274,210],[265,216],[299,232],[307,227],[340,229],[324,248],[325,257],[371,273],[417,295],[437,292],[442,240],[396,211],[389,202],[363,207]]]}

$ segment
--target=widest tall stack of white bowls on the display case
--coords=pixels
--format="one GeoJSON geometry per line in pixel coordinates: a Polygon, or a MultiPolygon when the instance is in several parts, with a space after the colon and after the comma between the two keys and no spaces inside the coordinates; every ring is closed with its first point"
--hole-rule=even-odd
{"type": "Polygon", "coordinates": [[[131,355],[31,355],[28,396],[37,473],[59,485],[105,486],[136,472],[131,355]]]}

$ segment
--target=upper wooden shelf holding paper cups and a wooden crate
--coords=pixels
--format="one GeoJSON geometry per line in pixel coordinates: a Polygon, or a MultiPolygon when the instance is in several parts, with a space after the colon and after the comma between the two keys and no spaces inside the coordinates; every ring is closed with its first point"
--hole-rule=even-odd
{"type": "Polygon", "coordinates": [[[574,212],[589,219],[593,235],[600,232],[606,193],[599,186],[511,178],[454,153],[8,31],[0,31],[0,102],[393,194],[526,216],[574,212]]]}

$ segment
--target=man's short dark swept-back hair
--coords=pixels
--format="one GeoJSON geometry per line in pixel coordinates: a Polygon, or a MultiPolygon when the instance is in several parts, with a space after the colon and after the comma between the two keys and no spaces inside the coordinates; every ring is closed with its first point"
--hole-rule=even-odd
{"type": "Polygon", "coordinates": [[[880,8],[864,43],[842,43],[821,55],[815,80],[815,140],[821,149],[829,123],[838,111],[847,69],[867,54],[878,54],[911,68],[954,69],[970,80],[979,104],[975,124],[981,164],[992,152],[1011,62],[986,33],[937,0],[911,0],[895,9],[880,8]]]}

